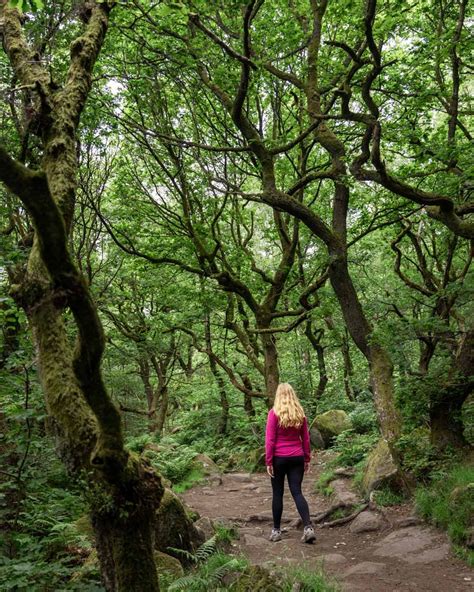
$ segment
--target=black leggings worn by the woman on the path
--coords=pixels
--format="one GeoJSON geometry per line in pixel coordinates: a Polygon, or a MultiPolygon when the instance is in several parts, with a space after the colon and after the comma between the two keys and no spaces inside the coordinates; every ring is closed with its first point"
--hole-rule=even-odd
{"type": "Polygon", "coordinates": [[[273,527],[280,528],[281,515],[283,513],[283,490],[285,487],[285,475],[288,475],[288,485],[291,495],[295,500],[296,508],[303,521],[303,526],[309,526],[308,502],[301,493],[301,483],[304,475],[304,456],[274,456],[272,477],[272,513],[273,527]]]}

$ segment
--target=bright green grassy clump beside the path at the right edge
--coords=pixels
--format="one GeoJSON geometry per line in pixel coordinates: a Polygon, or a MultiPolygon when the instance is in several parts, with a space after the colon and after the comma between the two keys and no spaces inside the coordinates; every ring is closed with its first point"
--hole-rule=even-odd
{"type": "Polygon", "coordinates": [[[458,464],[432,474],[429,485],[415,493],[417,512],[448,531],[451,540],[463,544],[474,516],[474,467],[458,464]]]}

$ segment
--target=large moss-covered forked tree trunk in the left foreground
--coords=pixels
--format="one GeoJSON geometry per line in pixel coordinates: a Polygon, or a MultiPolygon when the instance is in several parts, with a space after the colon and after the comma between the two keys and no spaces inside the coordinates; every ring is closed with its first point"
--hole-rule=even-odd
{"type": "Polygon", "coordinates": [[[120,414],[101,375],[102,325],[68,250],[76,130],[111,5],[88,2],[79,8],[84,28],[71,45],[59,89],[28,45],[20,12],[5,2],[0,8],[3,46],[16,79],[31,95],[43,148],[41,166],[32,170],[0,145],[0,180],[21,200],[35,227],[25,276],[12,293],[30,320],[60,455],[71,473],[88,476],[104,585],[110,592],[154,592],[159,585],[151,524],[163,494],[161,480],[124,448],[120,414]],[[74,349],[64,323],[67,308],[76,325],[74,349]]]}

